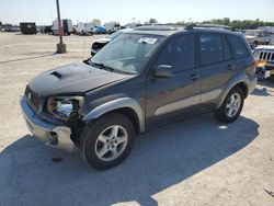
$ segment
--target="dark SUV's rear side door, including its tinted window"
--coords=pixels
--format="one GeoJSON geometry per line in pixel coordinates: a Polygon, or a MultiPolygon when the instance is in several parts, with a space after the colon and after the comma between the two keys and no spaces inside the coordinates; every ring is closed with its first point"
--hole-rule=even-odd
{"type": "Polygon", "coordinates": [[[202,105],[215,106],[227,83],[237,75],[238,65],[225,34],[202,32],[199,65],[202,72],[202,105]]]}

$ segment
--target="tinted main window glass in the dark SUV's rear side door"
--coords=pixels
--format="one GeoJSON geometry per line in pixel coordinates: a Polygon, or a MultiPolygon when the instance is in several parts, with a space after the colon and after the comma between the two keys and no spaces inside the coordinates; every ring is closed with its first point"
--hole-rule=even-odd
{"type": "Polygon", "coordinates": [[[202,66],[217,64],[224,60],[221,35],[201,34],[199,53],[202,66]]]}

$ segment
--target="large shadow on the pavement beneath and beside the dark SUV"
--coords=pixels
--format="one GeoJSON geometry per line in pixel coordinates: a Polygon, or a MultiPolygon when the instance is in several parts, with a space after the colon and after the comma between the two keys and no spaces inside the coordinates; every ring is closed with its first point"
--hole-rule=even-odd
{"type": "Polygon", "coordinates": [[[129,158],[107,171],[89,168],[79,152],[47,148],[26,135],[0,154],[0,199],[5,205],[157,205],[152,195],[247,147],[258,128],[242,116],[229,125],[212,114],[184,119],[137,136],[129,158]]]}

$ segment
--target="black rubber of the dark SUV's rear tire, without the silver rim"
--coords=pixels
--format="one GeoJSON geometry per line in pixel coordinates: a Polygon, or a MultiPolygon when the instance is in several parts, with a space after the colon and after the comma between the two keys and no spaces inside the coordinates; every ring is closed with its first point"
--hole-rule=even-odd
{"type": "Polygon", "coordinates": [[[217,118],[217,121],[219,121],[221,123],[232,123],[233,121],[236,121],[239,117],[239,115],[240,115],[240,113],[242,111],[243,103],[244,103],[244,93],[243,93],[242,89],[239,88],[239,87],[235,87],[227,94],[227,96],[226,96],[225,101],[222,102],[221,106],[218,110],[215,111],[215,113],[214,113],[215,117],[217,118]],[[241,99],[241,103],[240,103],[240,107],[239,107],[238,112],[232,117],[230,117],[227,114],[227,103],[228,103],[230,96],[232,94],[235,94],[235,93],[239,94],[239,96],[241,99]]]}

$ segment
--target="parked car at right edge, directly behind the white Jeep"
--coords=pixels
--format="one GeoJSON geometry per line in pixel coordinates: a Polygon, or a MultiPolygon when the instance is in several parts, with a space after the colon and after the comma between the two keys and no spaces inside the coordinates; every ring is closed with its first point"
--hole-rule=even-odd
{"type": "Polygon", "coordinates": [[[256,47],[258,45],[267,45],[274,37],[265,30],[247,30],[244,36],[249,44],[256,47]]]}

